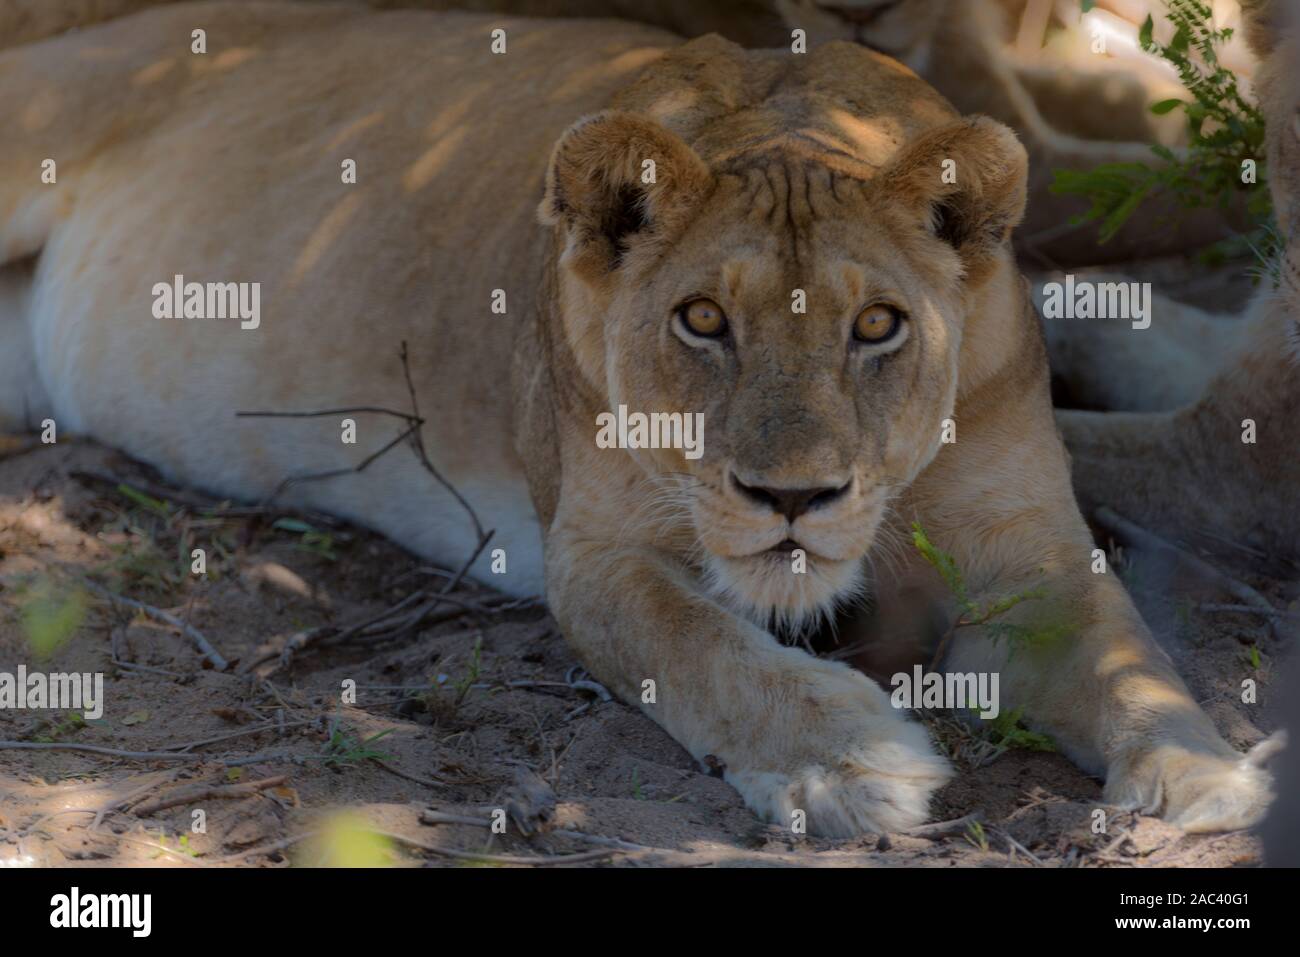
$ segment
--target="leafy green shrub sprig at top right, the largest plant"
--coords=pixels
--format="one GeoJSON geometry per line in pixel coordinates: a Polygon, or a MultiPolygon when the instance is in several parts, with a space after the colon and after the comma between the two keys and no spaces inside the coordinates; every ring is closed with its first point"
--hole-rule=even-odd
{"type": "Polygon", "coordinates": [[[1076,222],[1100,222],[1098,243],[1109,242],[1147,200],[1171,195],[1183,208],[1218,207],[1226,209],[1243,192],[1252,231],[1202,254],[1206,261],[1223,261],[1253,252],[1270,264],[1277,248],[1271,228],[1273,203],[1265,182],[1264,114],[1248,101],[1236,77],[1218,59],[1218,48],[1232,39],[1231,29],[1217,29],[1213,10],[1204,0],[1169,0],[1166,17],[1174,26],[1169,43],[1154,39],[1150,16],[1138,39],[1141,48],[1178,70],[1188,99],[1161,100],[1152,113],[1164,116],[1183,111],[1188,147],[1179,155],[1153,146],[1152,164],[1110,163],[1089,170],[1057,169],[1052,191],[1083,196],[1091,208],[1076,222]],[[1243,165],[1257,166],[1257,185],[1243,182],[1243,165]]]}

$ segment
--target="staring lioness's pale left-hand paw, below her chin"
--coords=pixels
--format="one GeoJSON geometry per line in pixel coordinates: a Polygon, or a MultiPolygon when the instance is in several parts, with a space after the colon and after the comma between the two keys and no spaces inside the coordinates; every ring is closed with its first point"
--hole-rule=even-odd
{"type": "MultiPolygon", "coordinates": [[[[881,723],[878,718],[874,729],[881,723]]],[[[952,778],[952,767],[935,753],[924,728],[901,719],[889,724],[889,740],[824,755],[810,742],[805,766],[728,771],[727,780],[760,817],[790,828],[802,820],[809,833],[822,837],[915,827],[928,819],[930,797],[952,778]]]]}

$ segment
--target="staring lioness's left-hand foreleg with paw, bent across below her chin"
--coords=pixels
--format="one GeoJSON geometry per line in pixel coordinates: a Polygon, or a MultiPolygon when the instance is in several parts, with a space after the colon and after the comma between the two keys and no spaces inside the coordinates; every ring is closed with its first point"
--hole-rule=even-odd
{"type": "Polygon", "coordinates": [[[720,761],[768,820],[823,836],[906,828],[950,775],[866,676],[780,645],[666,557],[552,529],[547,596],[593,674],[720,761]]]}

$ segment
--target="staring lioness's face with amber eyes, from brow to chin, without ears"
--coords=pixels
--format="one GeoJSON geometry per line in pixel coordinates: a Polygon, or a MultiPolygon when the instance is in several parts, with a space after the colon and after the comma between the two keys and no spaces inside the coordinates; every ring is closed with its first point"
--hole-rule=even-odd
{"type": "Polygon", "coordinates": [[[715,593],[800,627],[861,586],[893,493],[940,446],[957,384],[957,255],[878,190],[775,155],[719,178],[610,307],[610,407],[703,415],[666,451],[715,593]]]}

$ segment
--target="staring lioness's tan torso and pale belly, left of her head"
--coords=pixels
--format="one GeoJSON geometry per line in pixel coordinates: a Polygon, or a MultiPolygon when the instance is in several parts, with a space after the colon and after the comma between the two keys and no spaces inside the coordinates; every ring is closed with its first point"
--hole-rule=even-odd
{"type": "MultiPolygon", "coordinates": [[[[541,195],[564,127],[680,40],[637,25],[543,22],[519,43],[549,56],[489,59],[481,21],[438,22],[446,29],[424,30],[416,47],[410,31],[428,14],[166,8],[8,57],[6,117],[23,135],[5,135],[0,151],[0,208],[10,211],[0,259],[44,251],[30,303],[35,367],[18,350],[0,348],[0,363],[8,382],[27,381],[29,394],[10,399],[26,424],[53,415],[62,430],[104,437],[177,478],[261,499],[286,477],[356,464],[402,423],[354,416],[354,446],[339,438],[342,416],[234,412],[304,400],[407,410],[406,341],[430,447],[447,480],[491,516],[494,546],[510,557],[495,584],[540,594],[541,537],[511,438],[511,354],[543,265],[534,203],[523,199],[541,195]],[[213,40],[208,59],[188,51],[199,20],[213,40]],[[344,31],[322,72],[320,44],[344,31]],[[114,48],[129,56],[96,53],[114,48]],[[556,73],[559,61],[582,81],[556,73]],[[490,79],[467,81],[471,62],[490,79]],[[96,85],[124,99],[86,92],[96,85]],[[83,96],[75,105],[56,92],[69,86],[83,96]],[[438,90],[448,94],[428,95],[438,90]],[[207,129],[195,135],[200,116],[207,129]],[[58,182],[31,190],[47,156],[58,182]],[[342,182],[344,159],[358,164],[355,185],[342,182]],[[500,204],[498,181],[520,202],[500,204]],[[231,209],[246,211],[238,229],[231,209]],[[176,274],[260,282],[264,321],[156,319],[150,286],[176,274]],[[105,287],[78,276],[118,278],[105,287]],[[493,312],[494,289],[506,290],[506,315],[493,312]],[[202,428],[178,428],[185,421],[202,428]]],[[[14,317],[4,319],[0,335],[17,337],[14,317]]],[[[387,455],[295,498],[419,553],[463,559],[472,524],[411,465],[404,452],[387,455]],[[412,516],[415,502],[429,507],[412,516]]],[[[488,564],[484,555],[474,571],[488,575],[488,564]]]]}

